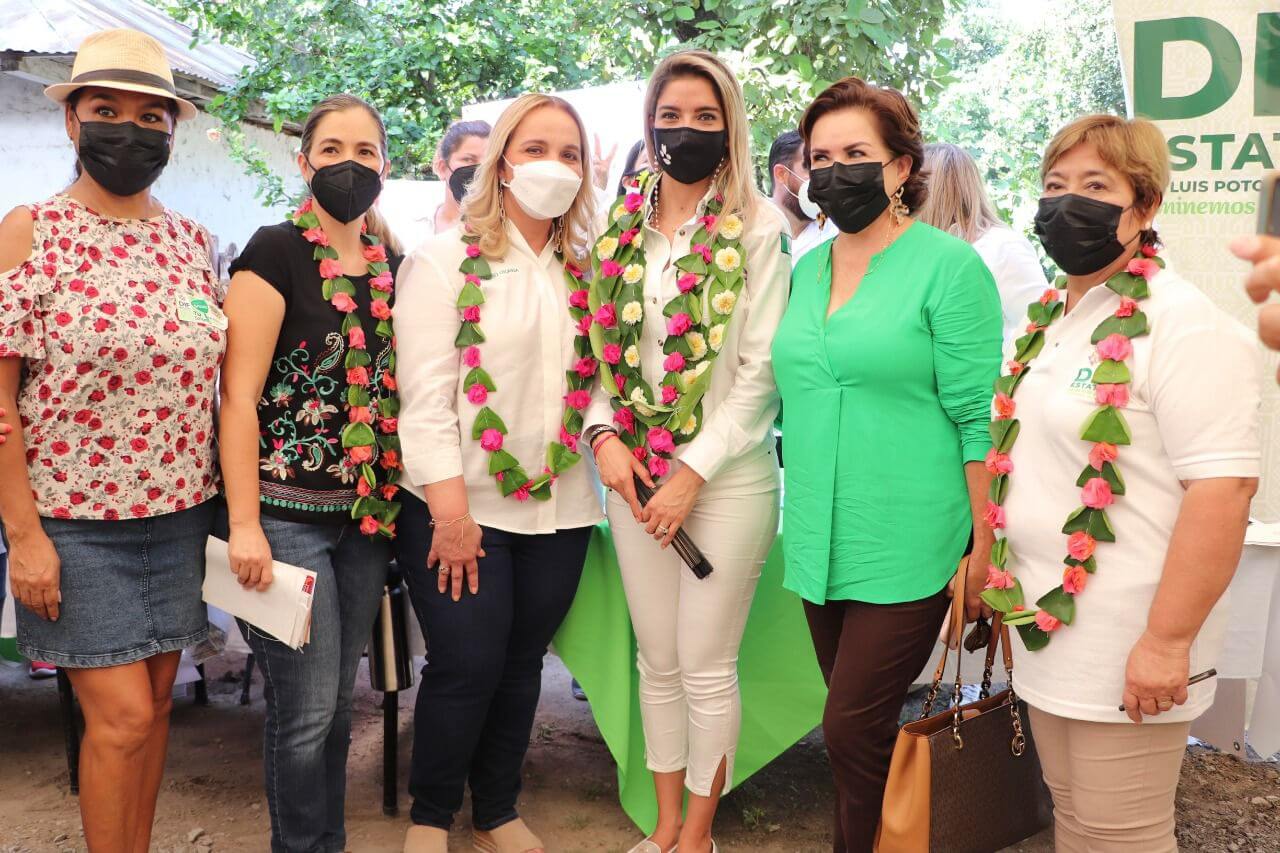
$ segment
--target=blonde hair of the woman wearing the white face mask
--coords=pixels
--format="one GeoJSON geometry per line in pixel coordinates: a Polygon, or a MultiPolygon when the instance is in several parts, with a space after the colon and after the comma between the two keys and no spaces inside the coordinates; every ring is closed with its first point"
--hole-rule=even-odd
{"type": "Polygon", "coordinates": [[[582,186],[573,197],[568,211],[559,218],[561,248],[564,256],[582,266],[590,251],[591,220],[595,218],[595,190],[591,184],[591,150],[586,140],[586,127],[573,105],[563,97],[530,92],[511,102],[498,117],[484,158],[476,168],[467,195],[462,200],[462,219],[466,228],[480,237],[480,251],[489,257],[502,257],[507,252],[507,227],[503,211],[503,191],[499,163],[507,145],[525,117],[536,109],[553,106],[563,110],[577,124],[582,150],[582,186]]]}

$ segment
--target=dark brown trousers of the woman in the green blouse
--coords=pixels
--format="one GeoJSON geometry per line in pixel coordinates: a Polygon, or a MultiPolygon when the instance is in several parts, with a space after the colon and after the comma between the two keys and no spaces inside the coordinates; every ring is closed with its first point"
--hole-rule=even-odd
{"type": "Polygon", "coordinates": [[[804,605],[828,688],[822,733],[836,780],[836,853],[872,850],[899,713],[950,602],[943,588],[901,605],[804,605]]]}

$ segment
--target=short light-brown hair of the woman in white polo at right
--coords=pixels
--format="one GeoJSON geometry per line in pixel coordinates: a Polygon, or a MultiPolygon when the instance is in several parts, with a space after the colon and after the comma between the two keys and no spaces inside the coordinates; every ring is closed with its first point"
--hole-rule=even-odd
{"type": "MultiPolygon", "coordinates": [[[[1165,134],[1147,119],[1124,119],[1119,115],[1085,115],[1053,136],[1041,163],[1041,183],[1053,164],[1078,145],[1091,143],[1108,167],[1133,186],[1133,206],[1155,214],[1169,186],[1169,147],[1165,134]]],[[[1157,241],[1156,229],[1142,232],[1142,243],[1157,241]]]]}

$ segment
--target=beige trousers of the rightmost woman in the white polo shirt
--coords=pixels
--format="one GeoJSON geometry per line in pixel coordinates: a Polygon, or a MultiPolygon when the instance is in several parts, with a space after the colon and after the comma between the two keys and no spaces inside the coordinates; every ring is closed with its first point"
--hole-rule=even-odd
{"type": "Polygon", "coordinates": [[[1089,722],[1030,710],[1057,853],[1176,853],[1190,722],[1089,722]]]}

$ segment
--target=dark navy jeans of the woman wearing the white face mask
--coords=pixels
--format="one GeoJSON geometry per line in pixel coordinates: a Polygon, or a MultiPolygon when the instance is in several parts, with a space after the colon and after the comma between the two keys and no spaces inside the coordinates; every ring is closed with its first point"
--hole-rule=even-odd
{"type": "Polygon", "coordinates": [[[471,824],[513,821],[541,692],[543,656],[582,576],[591,528],[543,535],[481,528],[480,592],[442,594],[426,567],[426,505],[401,492],[397,561],[426,637],[408,792],[415,824],[448,829],[471,786],[471,824]]]}

